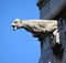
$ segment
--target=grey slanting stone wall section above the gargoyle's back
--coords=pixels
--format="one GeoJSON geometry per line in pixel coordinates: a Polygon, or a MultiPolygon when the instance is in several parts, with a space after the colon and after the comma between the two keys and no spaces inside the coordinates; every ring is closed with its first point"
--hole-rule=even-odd
{"type": "Polygon", "coordinates": [[[38,4],[40,19],[52,19],[63,9],[64,6],[66,6],[66,0],[48,0],[47,2],[42,2],[41,4],[38,4]],[[43,4],[42,8],[41,4],[43,4]]]}

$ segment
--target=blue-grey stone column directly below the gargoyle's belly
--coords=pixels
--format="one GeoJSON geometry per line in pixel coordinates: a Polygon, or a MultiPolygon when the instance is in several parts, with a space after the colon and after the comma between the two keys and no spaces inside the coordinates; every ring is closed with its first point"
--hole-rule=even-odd
{"type": "Polygon", "coordinates": [[[53,63],[53,51],[51,49],[50,35],[41,40],[41,57],[38,63],[53,63]]]}

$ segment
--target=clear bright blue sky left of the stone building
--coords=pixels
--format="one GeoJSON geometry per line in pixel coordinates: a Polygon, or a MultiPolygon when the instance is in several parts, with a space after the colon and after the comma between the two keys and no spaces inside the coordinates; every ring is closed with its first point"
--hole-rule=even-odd
{"type": "Polygon", "coordinates": [[[15,18],[38,19],[37,0],[0,0],[0,63],[37,63],[40,42],[25,30],[13,31],[15,18]]]}

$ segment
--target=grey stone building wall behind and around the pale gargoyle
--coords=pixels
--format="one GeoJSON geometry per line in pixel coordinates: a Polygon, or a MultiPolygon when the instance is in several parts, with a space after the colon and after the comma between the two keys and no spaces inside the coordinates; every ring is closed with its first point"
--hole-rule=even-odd
{"type": "Polygon", "coordinates": [[[66,0],[37,0],[40,19],[57,20],[61,44],[51,48],[46,39],[41,42],[41,56],[38,63],[66,63],[66,0]]]}

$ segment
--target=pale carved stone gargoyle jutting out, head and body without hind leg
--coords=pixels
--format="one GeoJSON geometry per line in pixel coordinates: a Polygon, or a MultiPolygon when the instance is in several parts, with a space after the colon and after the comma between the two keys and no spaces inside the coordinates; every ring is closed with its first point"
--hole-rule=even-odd
{"type": "Polygon", "coordinates": [[[35,38],[43,38],[45,34],[54,32],[57,29],[56,20],[20,20],[15,19],[11,25],[13,30],[25,29],[35,38]]]}

